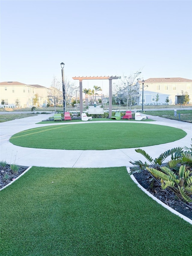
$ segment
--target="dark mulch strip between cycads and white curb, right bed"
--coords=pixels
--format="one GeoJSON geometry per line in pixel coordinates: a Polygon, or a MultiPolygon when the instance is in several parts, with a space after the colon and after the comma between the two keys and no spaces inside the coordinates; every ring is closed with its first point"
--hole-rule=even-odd
{"type": "Polygon", "coordinates": [[[154,183],[152,184],[152,176],[147,170],[142,170],[140,173],[134,173],[133,176],[137,182],[153,196],[192,220],[192,203],[178,200],[173,191],[161,189],[161,186],[158,182],[154,181],[154,179],[154,183]]]}

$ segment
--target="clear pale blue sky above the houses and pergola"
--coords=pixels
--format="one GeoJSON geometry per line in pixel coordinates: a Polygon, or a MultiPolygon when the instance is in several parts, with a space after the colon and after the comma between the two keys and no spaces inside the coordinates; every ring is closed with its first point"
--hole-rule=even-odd
{"type": "MultiPolygon", "coordinates": [[[[192,1],[0,1],[0,81],[51,86],[53,77],[192,79],[192,1]]],[[[116,82],[116,80],[113,80],[116,82]]],[[[83,88],[108,80],[83,80],[83,88]]]]}

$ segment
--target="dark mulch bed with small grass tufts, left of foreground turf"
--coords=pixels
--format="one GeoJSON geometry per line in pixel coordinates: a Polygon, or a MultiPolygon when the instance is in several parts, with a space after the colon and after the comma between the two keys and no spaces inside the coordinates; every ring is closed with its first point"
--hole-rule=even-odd
{"type": "Polygon", "coordinates": [[[10,169],[10,165],[7,164],[5,167],[0,166],[0,189],[9,184],[12,180],[16,179],[19,175],[21,175],[25,170],[27,170],[26,166],[19,166],[19,170],[17,173],[12,173],[10,169]],[[6,174],[8,174],[8,179],[4,179],[6,174]]]}

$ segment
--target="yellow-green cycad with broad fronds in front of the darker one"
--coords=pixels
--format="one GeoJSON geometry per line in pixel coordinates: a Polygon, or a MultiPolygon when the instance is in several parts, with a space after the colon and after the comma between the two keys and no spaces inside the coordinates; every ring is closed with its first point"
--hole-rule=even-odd
{"type": "Polygon", "coordinates": [[[146,167],[153,177],[161,181],[161,188],[174,191],[179,199],[191,203],[192,202],[192,170],[190,167],[181,165],[179,172],[174,173],[168,167],[160,167],[160,170],[146,167]]]}

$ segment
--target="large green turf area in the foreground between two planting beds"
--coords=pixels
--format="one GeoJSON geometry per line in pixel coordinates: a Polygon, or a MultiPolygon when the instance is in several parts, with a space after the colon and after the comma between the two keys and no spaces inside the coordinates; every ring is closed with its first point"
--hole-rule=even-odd
{"type": "Polygon", "coordinates": [[[0,200],[0,255],[191,255],[192,225],[125,167],[32,167],[0,200]]]}

